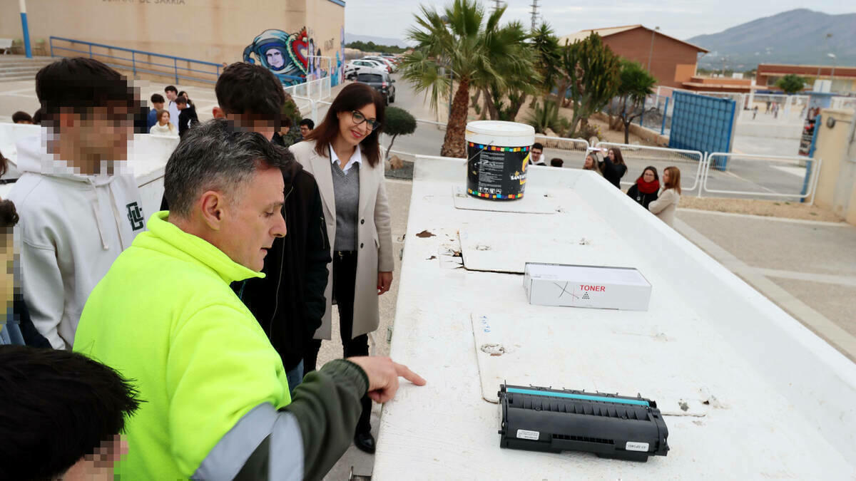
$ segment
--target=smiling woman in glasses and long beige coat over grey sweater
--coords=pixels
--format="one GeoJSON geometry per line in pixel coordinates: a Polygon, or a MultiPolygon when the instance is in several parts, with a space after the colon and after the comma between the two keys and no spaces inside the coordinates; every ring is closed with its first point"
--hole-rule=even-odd
{"type": "MultiPolygon", "coordinates": [[[[339,307],[344,356],[369,353],[367,333],[377,330],[377,296],[392,283],[392,234],[377,136],[383,124],[383,98],[366,84],[346,86],[306,141],[290,147],[303,168],[315,176],[333,258],[325,297],[327,310],[315,338],[330,339],[330,304],[339,307]]],[[[310,347],[305,371],[315,368],[321,341],[310,347]]],[[[354,444],[375,449],[369,424],[372,401],[363,412],[354,444]]]]}

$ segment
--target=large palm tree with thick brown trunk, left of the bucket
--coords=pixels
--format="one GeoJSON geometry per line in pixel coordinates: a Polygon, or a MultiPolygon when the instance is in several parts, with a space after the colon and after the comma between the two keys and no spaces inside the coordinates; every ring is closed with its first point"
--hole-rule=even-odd
{"type": "Polygon", "coordinates": [[[401,76],[413,84],[416,92],[425,93],[431,109],[437,110],[439,99],[449,90],[451,80],[443,72],[450,70],[457,81],[440,155],[466,157],[464,134],[470,87],[493,84],[504,90],[508,72],[519,72],[520,64],[531,62],[529,56],[521,54],[525,50],[520,44],[526,33],[514,24],[499,26],[504,11],[502,7],[485,15],[477,0],[454,0],[443,13],[420,5],[420,13],[415,15],[417,26],[407,31],[407,39],[413,40],[416,47],[405,56],[401,76]]]}

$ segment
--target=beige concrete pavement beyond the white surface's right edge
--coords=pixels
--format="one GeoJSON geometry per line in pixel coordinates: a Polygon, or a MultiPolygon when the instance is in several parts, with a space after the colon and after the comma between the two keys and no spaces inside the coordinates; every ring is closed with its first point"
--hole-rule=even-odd
{"type": "Polygon", "coordinates": [[[856,227],[679,210],[675,229],[856,360],[856,227]]]}

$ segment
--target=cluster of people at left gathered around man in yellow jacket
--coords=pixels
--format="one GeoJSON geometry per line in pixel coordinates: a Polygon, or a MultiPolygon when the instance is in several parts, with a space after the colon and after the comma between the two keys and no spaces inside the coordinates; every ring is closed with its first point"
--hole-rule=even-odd
{"type": "Polygon", "coordinates": [[[352,441],[373,452],[371,402],[425,384],[367,355],[394,262],[377,92],[346,86],[285,148],[280,82],[229,65],[146,223],[127,80],[70,58],[36,91],[45,141],[19,142],[0,202],[21,294],[0,324],[0,478],[318,479],[352,441]],[[334,303],[346,359],[316,370],[334,303]]]}

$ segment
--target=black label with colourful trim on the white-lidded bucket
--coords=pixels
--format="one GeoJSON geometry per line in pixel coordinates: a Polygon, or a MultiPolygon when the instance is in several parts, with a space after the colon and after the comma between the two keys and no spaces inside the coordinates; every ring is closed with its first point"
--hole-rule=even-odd
{"type": "Polygon", "coordinates": [[[523,197],[529,149],[467,142],[467,193],[494,200],[523,197]]]}

